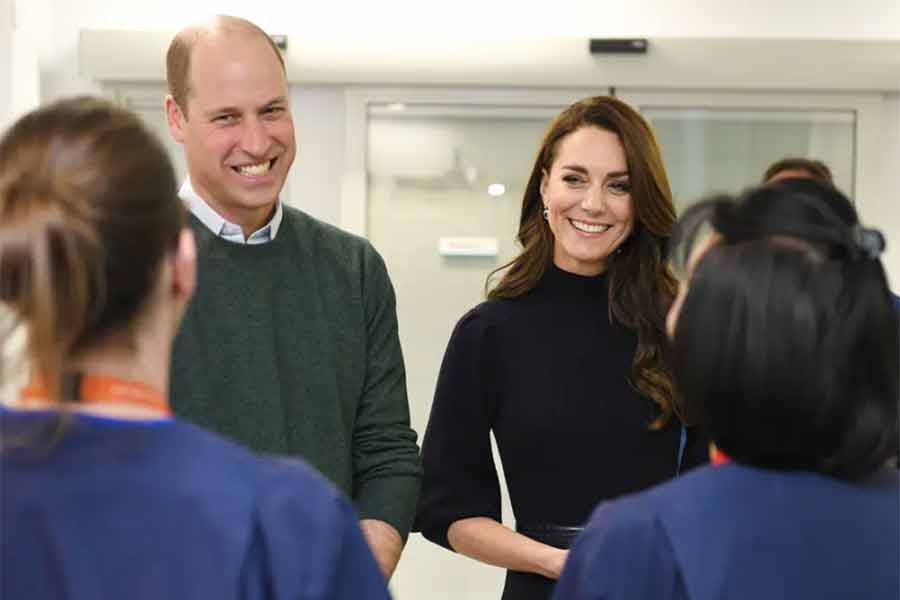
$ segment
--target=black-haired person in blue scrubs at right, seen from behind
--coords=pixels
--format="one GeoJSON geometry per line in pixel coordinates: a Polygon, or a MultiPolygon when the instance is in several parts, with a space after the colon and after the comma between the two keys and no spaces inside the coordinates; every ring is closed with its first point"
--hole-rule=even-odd
{"type": "Polygon", "coordinates": [[[601,504],[558,600],[896,600],[900,320],[834,186],[786,179],[683,216],[668,317],[681,411],[720,464],[601,504]]]}

